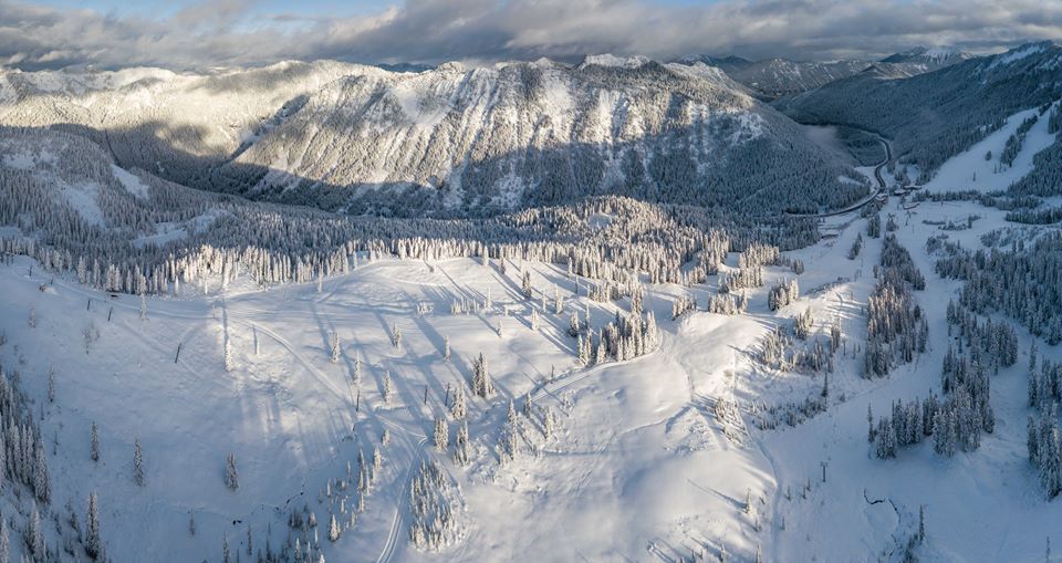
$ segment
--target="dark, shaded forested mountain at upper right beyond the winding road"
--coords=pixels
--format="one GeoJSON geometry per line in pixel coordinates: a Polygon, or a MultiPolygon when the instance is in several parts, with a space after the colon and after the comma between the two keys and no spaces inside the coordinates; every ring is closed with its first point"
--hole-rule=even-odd
{"type": "Polygon", "coordinates": [[[881,133],[894,139],[904,160],[931,173],[1008,116],[1060,97],[1062,48],[1040,42],[915,76],[878,65],[777,107],[800,122],[881,133]]]}

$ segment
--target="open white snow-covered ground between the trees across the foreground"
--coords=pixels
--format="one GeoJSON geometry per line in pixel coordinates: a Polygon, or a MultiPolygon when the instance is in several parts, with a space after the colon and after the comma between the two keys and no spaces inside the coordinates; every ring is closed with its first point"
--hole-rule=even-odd
{"type": "MultiPolygon", "coordinates": [[[[497,261],[363,257],[350,274],[320,289],[236,283],[202,295],[186,285],[178,299],[147,299],[146,319],[137,298],[52,279],[19,258],[0,265],[7,336],[0,364],[20,372],[34,411],[42,413],[42,435],[56,444],[49,458],[53,505],[70,500],[83,512],[88,491],[96,491],[114,561],[175,554],[220,561],[222,538],[242,551],[248,528],[256,549],[267,535],[278,549],[288,536],[288,509],[303,505],[315,513],[330,562],[678,561],[722,549],[739,560],[753,560],[757,550],[767,561],[895,560],[923,505],[925,561],[1042,561],[1044,539],[1059,540],[1062,504],[1043,498],[1027,461],[1023,330],[1023,357],[992,376],[998,423],[980,449],[946,459],[924,442],[898,459],[872,456],[867,405],[881,415],[893,400],[939,394],[945,307],[959,284],[936,277],[927,237],[943,232],[939,221],[978,215],[971,229],[948,231],[977,248],[982,233],[1004,225],[1001,211],[965,202],[922,204],[908,212],[891,198],[883,212],[897,216],[897,237],[929,280],[916,299],[930,320],[930,351],[885,379],[863,379],[862,354],[854,353],[865,338],[862,307],[881,251],[879,239],[864,237],[861,256],[846,258],[865,227],[854,212],[829,218],[820,243],[788,253],[805,264],[796,277],[805,295],[781,311],[768,310],[766,294],[773,281],[794,277],[782,268],[767,269],[766,288],[749,293],[750,310],[738,316],[698,311],[670,320],[680,294],[694,294],[702,309],[716,277],[694,289],[649,286],[646,306],[656,313],[662,342],[623,363],[580,367],[568,312],[545,313],[542,326],[531,329],[538,294],[552,296],[554,286],[569,311],[585,306],[563,269],[524,264],[533,272],[532,303],[521,295],[516,262],[503,274],[497,261]],[[449,311],[455,299],[488,295],[487,311],[449,311]],[[822,388],[821,376],[779,373],[750,359],[766,332],[809,306],[818,331],[839,319],[848,346],[831,375],[830,407],[796,427],[760,430],[752,405],[801,402],[822,388]],[[35,327],[29,327],[31,311],[35,327]],[[398,347],[395,326],[403,335],[398,347]],[[332,333],[341,343],[335,363],[332,333]],[[486,400],[467,392],[479,353],[498,387],[486,400]],[[50,369],[54,403],[48,400],[50,369]],[[389,403],[385,373],[394,387],[389,403]],[[475,451],[467,468],[431,442],[433,421],[459,386],[469,396],[475,451]],[[519,410],[527,396],[559,415],[559,429],[551,438],[528,432],[517,458],[502,462],[507,402],[513,398],[519,410]],[[98,462],[90,460],[93,423],[98,462]],[[143,487],[133,479],[136,439],[143,487]],[[371,457],[376,447],[383,463],[365,510],[331,543],[330,511],[339,512],[341,502],[353,510],[354,497],[323,492],[330,479],[347,475],[360,450],[371,457]],[[239,469],[235,491],[223,479],[230,453],[239,469]],[[407,488],[425,459],[437,460],[459,484],[457,533],[439,552],[408,541],[407,488]]],[[[735,265],[730,257],[723,270],[735,265]]],[[[626,303],[591,303],[594,325],[617,306],[626,303]]],[[[1054,347],[1041,343],[1041,350],[1062,359],[1054,347]]],[[[455,432],[451,420],[451,444],[455,432]]]]}

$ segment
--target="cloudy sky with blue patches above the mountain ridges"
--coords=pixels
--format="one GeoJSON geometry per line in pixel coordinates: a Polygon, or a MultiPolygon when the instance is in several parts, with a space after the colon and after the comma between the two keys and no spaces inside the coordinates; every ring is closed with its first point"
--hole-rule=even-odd
{"type": "Polygon", "coordinates": [[[1062,40],[1062,0],[0,0],[0,65],[878,59],[1062,40]]]}

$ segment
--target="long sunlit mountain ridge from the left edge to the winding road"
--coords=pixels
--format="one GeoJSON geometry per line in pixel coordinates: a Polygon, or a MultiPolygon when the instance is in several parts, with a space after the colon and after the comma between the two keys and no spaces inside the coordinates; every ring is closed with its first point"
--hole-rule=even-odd
{"type": "Polygon", "coordinates": [[[865,179],[706,65],[598,55],[393,73],[282,63],[207,75],[7,73],[0,124],[54,126],[188,186],[376,215],[620,194],[762,213],[865,179]],[[846,179],[845,179],[846,178],[846,179]]]}

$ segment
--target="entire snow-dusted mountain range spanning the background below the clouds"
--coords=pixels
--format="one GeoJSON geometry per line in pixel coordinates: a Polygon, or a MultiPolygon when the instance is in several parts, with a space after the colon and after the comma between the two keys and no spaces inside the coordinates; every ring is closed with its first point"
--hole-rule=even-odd
{"type": "Polygon", "coordinates": [[[884,135],[931,175],[1006,116],[1060,97],[1060,56],[1048,42],[979,58],[918,49],[860,71],[613,55],[417,72],[4,70],[0,126],[79,135],[124,169],[188,187],[350,215],[489,216],[596,195],[806,213],[858,201],[871,183],[799,123],[884,135]]]}

